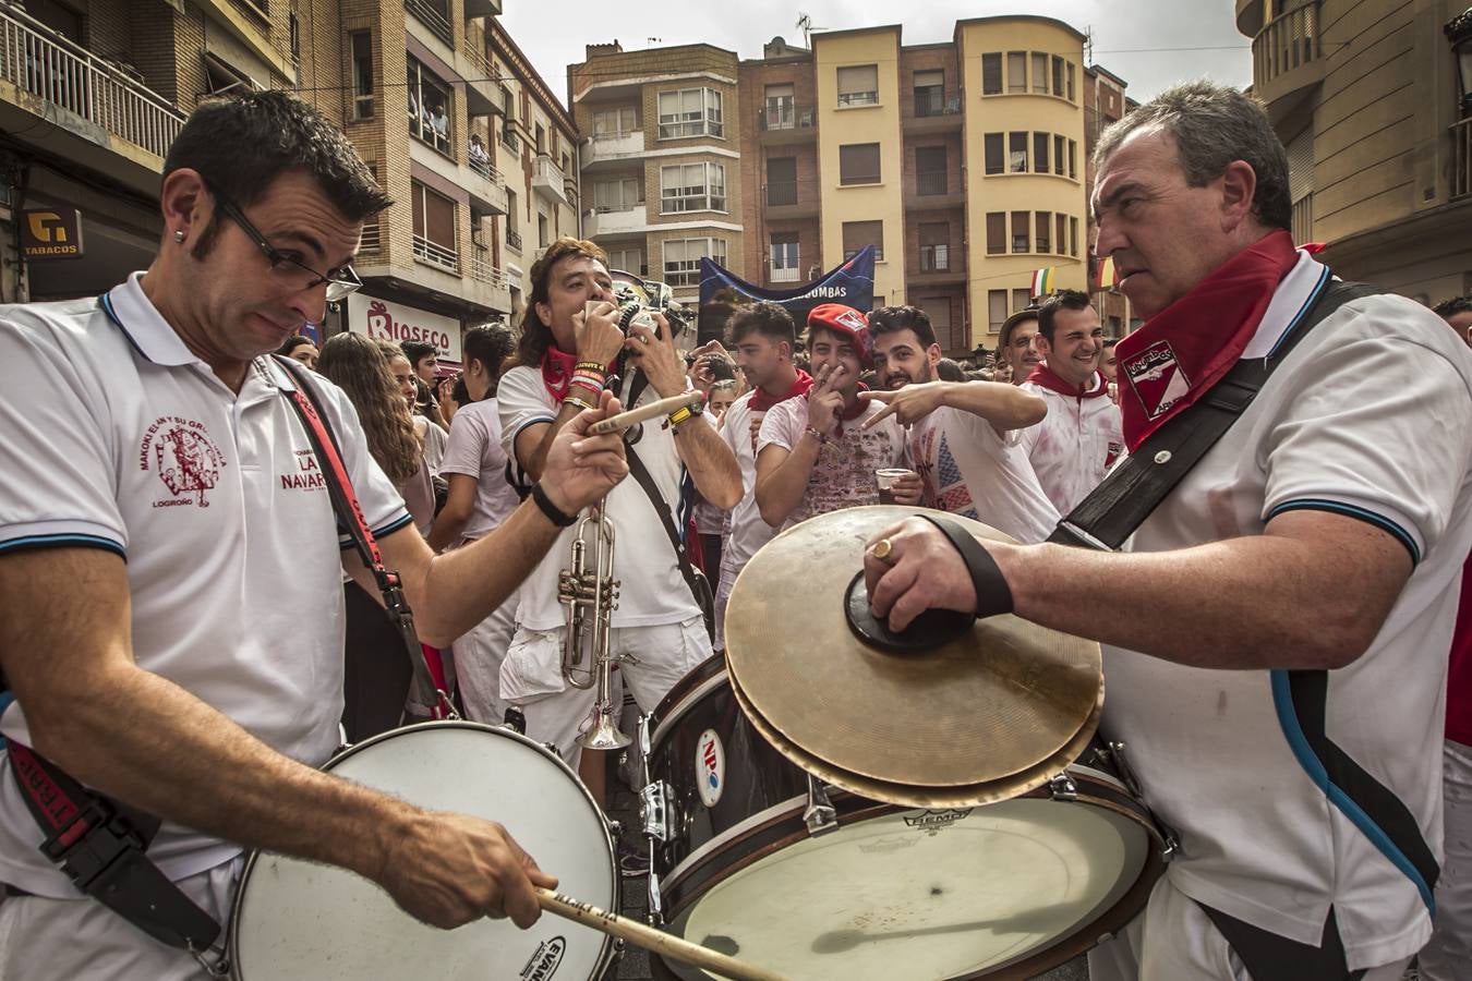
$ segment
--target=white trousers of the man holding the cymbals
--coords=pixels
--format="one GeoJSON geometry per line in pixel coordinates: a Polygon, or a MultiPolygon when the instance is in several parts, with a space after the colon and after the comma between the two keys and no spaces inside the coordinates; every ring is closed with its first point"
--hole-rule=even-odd
{"type": "MultiPolygon", "coordinates": [[[[1400,981],[1404,960],[1370,968],[1362,981],[1400,981]]],[[[1195,900],[1161,875],[1145,912],[1089,952],[1089,981],[1251,981],[1253,975],[1195,900]]],[[[1309,981],[1304,978],[1304,981],[1309,981]]]]}

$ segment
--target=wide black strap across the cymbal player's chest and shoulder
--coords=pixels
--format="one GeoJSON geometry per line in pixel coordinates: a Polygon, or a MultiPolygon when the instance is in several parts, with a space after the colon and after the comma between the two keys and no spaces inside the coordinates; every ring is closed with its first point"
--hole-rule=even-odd
{"type": "Polygon", "coordinates": [[[1312,304],[1288,327],[1267,357],[1241,359],[1226,375],[1175,419],[1156,429],[1058,522],[1048,541],[1114,552],[1216,441],[1232,428],[1257,393],[1309,331],[1351,300],[1384,293],[1363,282],[1325,278],[1312,304]]]}

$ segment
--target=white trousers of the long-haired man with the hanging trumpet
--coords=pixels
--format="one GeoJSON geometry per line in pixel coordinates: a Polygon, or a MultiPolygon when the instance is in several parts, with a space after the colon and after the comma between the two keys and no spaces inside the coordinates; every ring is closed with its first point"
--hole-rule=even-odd
{"type": "MultiPolygon", "coordinates": [[[[500,690],[508,703],[526,712],[527,735],[556,746],[562,759],[577,769],[583,756],[577,735],[589,721],[595,690],[564,685],[558,677],[565,634],[565,628],[531,631],[518,627],[502,665],[500,690]],[[537,690],[553,685],[559,690],[537,690]]],[[[620,665],[617,677],[643,712],[652,712],[680,678],[711,656],[711,638],[699,613],[680,624],[614,628],[608,634],[608,647],[614,654],[636,659],[636,663],[620,665]]],[[[615,685],[615,716],[621,702],[617,693],[615,685]]]]}

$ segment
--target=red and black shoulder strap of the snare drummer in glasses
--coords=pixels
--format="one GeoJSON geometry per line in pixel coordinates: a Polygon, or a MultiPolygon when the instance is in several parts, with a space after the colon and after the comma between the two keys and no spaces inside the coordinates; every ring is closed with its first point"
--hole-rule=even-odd
{"type": "Polygon", "coordinates": [[[327,413],[322,410],[322,403],[318,400],[316,393],[312,391],[311,382],[302,374],[306,369],[290,357],[277,356],[277,360],[296,382],[294,388],[283,388],[281,394],[296,409],[297,418],[302,421],[302,428],[306,429],[306,438],[312,444],[312,453],[316,456],[318,466],[322,471],[327,494],[333,502],[333,513],[337,515],[337,525],[352,541],[358,557],[372,572],[374,581],[378,584],[378,591],[383,594],[384,612],[397,629],[400,640],[403,640],[405,653],[409,656],[409,665],[414,668],[414,685],[418,690],[418,703],[434,706],[443,713],[443,718],[458,718],[453,702],[434,682],[434,674],[424,660],[424,646],[420,643],[420,634],[414,628],[414,612],[403,596],[403,584],[397,572],[390,572],[383,565],[378,541],[368,527],[368,519],[364,516],[362,506],[358,503],[358,494],[353,493],[352,481],[347,477],[347,466],[343,463],[342,453],[337,449],[337,437],[327,424],[327,413]]]}

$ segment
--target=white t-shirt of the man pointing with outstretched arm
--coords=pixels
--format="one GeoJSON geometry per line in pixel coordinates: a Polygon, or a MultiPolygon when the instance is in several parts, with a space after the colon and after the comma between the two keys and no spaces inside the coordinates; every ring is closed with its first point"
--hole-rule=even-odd
{"type": "Polygon", "coordinates": [[[1001,437],[982,416],[942,406],[910,427],[910,457],[930,507],[991,525],[1023,544],[1044,541],[1058,525],[1058,510],[1017,431],[1001,437]]]}

